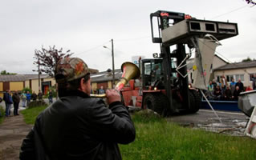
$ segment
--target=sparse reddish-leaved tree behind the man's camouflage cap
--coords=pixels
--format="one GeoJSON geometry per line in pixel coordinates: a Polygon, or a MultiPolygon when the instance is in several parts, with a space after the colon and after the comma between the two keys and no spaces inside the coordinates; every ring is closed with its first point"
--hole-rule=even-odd
{"type": "Polygon", "coordinates": [[[33,71],[38,71],[40,72],[40,74],[43,72],[53,77],[55,73],[55,65],[59,61],[59,59],[67,58],[74,54],[69,54],[69,52],[70,50],[67,50],[66,53],[63,53],[62,48],[60,50],[57,50],[55,49],[55,46],[49,46],[49,50],[43,48],[42,46],[42,50],[35,50],[34,64],[43,68],[33,71]]]}

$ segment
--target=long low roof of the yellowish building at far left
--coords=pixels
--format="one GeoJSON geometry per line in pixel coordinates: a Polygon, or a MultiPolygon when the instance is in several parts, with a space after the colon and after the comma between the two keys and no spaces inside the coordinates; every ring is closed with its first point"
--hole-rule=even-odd
{"type": "MultiPolygon", "coordinates": [[[[14,74],[0,75],[0,82],[23,82],[29,79],[38,79],[39,74],[14,74]]],[[[51,78],[47,74],[41,74],[40,78],[51,78]]]]}

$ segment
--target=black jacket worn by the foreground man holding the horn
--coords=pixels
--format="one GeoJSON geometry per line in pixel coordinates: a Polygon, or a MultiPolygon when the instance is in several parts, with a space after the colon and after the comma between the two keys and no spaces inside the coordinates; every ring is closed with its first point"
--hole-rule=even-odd
{"type": "Polygon", "coordinates": [[[102,99],[76,90],[39,114],[22,142],[20,159],[121,159],[117,143],[134,139],[135,128],[121,102],[108,109],[102,99]]]}

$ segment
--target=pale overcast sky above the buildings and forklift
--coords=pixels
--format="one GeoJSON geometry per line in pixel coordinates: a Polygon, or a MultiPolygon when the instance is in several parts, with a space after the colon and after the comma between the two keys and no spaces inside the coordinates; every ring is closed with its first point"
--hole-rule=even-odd
{"type": "Polygon", "coordinates": [[[132,56],[160,52],[151,40],[149,14],[168,10],[197,19],[237,22],[239,35],[221,41],[217,53],[231,62],[256,58],[256,6],[244,0],[6,0],[0,5],[0,71],[33,73],[35,50],[71,50],[90,68],[112,68],[132,56]],[[107,46],[108,48],[104,48],[107,46]]]}

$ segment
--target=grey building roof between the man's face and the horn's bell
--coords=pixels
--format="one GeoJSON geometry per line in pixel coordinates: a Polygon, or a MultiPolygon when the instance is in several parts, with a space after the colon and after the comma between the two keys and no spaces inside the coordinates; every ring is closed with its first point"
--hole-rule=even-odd
{"type": "MultiPolygon", "coordinates": [[[[122,77],[122,70],[115,70],[115,79],[120,79],[122,77]]],[[[98,74],[91,74],[91,82],[108,82],[112,81],[112,71],[103,71],[98,74]]]]}

